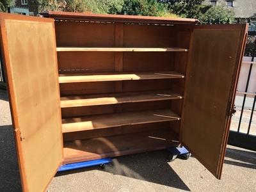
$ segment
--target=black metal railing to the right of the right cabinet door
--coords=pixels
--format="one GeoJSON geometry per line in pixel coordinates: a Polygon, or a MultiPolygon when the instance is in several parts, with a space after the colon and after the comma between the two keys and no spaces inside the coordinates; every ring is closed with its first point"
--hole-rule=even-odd
{"type": "Polygon", "coordinates": [[[248,33],[228,143],[256,150],[256,32],[248,33]]]}

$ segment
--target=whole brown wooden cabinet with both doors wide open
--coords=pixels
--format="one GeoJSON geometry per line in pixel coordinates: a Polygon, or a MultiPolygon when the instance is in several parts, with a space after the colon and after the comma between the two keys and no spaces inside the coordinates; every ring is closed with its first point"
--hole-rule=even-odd
{"type": "Polygon", "coordinates": [[[246,24],[42,15],[0,15],[24,191],[61,164],[179,145],[220,179],[246,24]]]}

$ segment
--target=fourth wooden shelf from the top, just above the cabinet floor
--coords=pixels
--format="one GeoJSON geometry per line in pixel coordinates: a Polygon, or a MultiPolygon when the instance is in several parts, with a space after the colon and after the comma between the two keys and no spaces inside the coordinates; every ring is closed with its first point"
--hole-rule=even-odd
{"type": "Polygon", "coordinates": [[[138,125],[173,120],[180,120],[180,116],[173,113],[170,109],[110,113],[79,118],[65,118],[62,120],[62,132],[87,131],[122,125],[138,125]]]}

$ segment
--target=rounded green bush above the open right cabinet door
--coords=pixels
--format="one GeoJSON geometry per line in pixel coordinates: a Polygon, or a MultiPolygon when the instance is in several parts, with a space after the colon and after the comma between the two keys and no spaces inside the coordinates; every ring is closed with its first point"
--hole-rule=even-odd
{"type": "Polygon", "coordinates": [[[234,22],[234,11],[224,5],[212,6],[202,15],[202,24],[227,24],[234,22]]]}

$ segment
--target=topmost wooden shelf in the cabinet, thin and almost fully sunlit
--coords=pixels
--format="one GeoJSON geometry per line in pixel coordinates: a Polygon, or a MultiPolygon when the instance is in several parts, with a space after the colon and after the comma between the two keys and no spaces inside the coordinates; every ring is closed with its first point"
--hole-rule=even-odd
{"type": "Polygon", "coordinates": [[[188,51],[179,47],[57,47],[57,51],[134,51],[134,52],[166,52],[188,51]]]}

